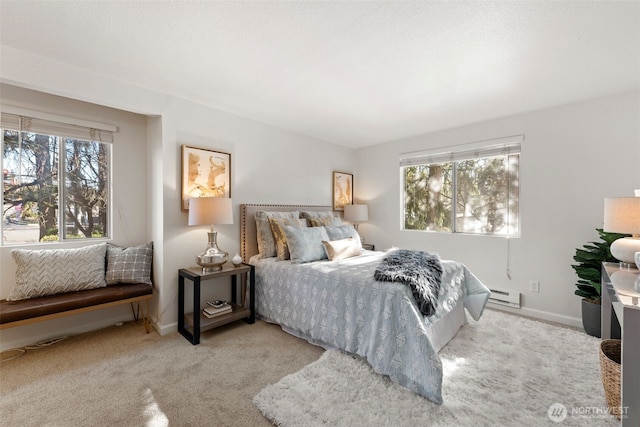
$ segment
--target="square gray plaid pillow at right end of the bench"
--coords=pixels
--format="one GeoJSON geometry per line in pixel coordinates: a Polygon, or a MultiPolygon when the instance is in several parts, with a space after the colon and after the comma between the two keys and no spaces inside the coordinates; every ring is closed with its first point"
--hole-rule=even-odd
{"type": "Polygon", "coordinates": [[[107,244],[107,285],[116,283],[144,283],[151,285],[153,242],[122,248],[107,244]]]}

